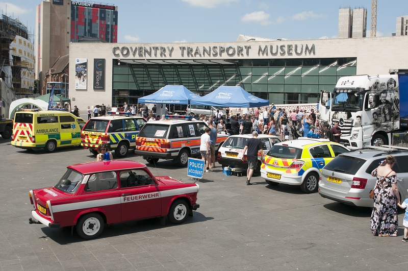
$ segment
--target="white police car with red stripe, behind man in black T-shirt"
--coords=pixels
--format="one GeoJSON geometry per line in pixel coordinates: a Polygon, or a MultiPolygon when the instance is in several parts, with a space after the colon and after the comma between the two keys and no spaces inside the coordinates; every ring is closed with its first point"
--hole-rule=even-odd
{"type": "MultiPolygon", "coordinates": [[[[224,166],[229,165],[230,167],[238,167],[238,168],[248,168],[248,163],[246,161],[242,161],[242,157],[244,156],[244,147],[246,142],[249,138],[252,138],[252,134],[246,135],[233,135],[228,137],[227,140],[219,147],[217,160],[218,163],[224,166]]],[[[266,154],[271,147],[278,142],[281,142],[276,136],[273,135],[258,135],[258,139],[262,142],[262,150],[264,154],[266,154]]],[[[261,154],[258,155],[258,167],[254,170],[254,175],[260,174],[261,168],[261,154]]]]}

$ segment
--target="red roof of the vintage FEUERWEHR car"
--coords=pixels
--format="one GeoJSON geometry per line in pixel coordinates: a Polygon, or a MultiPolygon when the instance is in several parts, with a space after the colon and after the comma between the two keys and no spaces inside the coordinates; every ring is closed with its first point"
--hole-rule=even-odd
{"type": "Polygon", "coordinates": [[[74,164],[67,166],[73,170],[78,171],[81,174],[91,174],[100,171],[113,171],[121,169],[130,169],[130,168],[142,168],[146,167],[145,164],[130,161],[130,160],[112,160],[112,161],[100,161],[100,162],[87,162],[81,164],[74,164]]]}

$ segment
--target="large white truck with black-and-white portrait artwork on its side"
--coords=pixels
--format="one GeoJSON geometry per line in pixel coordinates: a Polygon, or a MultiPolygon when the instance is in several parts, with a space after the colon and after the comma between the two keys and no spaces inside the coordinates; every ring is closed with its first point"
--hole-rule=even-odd
{"type": "Polygon", "coordinates": [[[321,91],[319,120],[331,125],[339,121],[340,143],[354,149],[406,146],[407,93],[408,69],[391,69],[389,75],[341,77],[333,92],[321,91]]]}

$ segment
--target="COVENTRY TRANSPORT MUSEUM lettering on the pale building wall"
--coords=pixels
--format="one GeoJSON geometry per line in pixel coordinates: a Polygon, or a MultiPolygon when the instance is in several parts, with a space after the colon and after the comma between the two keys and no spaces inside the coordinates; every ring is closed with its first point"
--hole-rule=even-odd
{"type": "Polygon", "coordinates": [[[177,57],[212,58],[212,57],[250,57],[257,53],[261,56],[311,56],[316,55],[315,44],[270,44],[238,46],[115,46],[112,53],[118,58],[172,58],[178,50],[177,57]]]}

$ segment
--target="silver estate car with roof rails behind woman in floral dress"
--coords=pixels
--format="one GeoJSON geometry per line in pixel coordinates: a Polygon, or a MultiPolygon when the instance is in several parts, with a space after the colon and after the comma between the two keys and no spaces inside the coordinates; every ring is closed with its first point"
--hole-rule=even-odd
{"type": "Polygon", "coordinates": [[[371,176],[371,171],[388,155],[397,160],[393,170],[397,174],[398,190],[403,201],[408,197],[408,148],[391,146],[370,146],[369,149],[337,156],[321,171],[319,194],[348,205],[373,207],[369,192],[374,189],[376,178],[371,176]]]}

